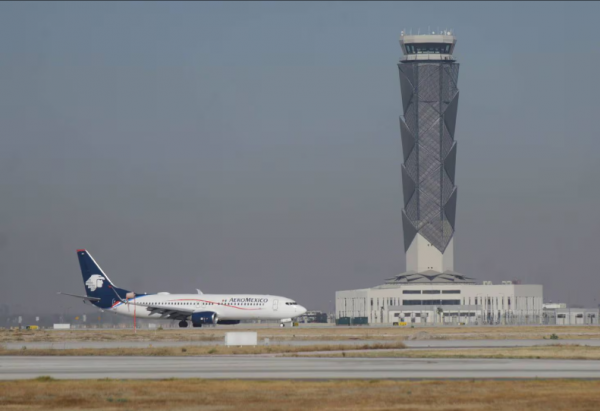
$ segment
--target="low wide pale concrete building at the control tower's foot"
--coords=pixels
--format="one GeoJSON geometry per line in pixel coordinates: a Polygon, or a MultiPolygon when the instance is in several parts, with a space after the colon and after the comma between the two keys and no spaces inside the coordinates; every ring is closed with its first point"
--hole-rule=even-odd
{"type": "Polygon", "coordinates": [[[385,284],[338,291],[335,306],[338,322],[541,324],[543,300],[541,285],[385,284]]]}

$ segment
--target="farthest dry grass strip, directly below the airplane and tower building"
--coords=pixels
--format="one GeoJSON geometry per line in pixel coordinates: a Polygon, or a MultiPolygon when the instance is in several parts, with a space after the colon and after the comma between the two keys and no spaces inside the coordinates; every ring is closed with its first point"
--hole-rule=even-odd
{"type": "Polygon", "coordinates": [[[138,330],[51,330],[9,331],[0,329],[3,342],[68,342],[68,341],[223,341],[228,331],[256,331],[258,338],[271,341],[324,340],[404,340],[417,333],[427,333],[431,339],[503,340],[542,339],[556,334],[561,339],[600,339],[598,326],[522,326],[522,327],[293,327],[174,329],[163,331],[138,330]]]}

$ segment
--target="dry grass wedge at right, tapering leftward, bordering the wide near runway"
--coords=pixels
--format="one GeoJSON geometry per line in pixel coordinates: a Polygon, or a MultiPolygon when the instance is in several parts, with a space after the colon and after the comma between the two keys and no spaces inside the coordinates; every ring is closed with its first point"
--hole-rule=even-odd
{"type": "MultiPolygon", "coordinates": [[[[551,345],[515,348],[469,348],[452,350],[394,350],[317,354],[318,357],[367,358],[520,358],[600,360],[600,347],[580,345],[551,345]]],[[[598,406],[600,409],[600,404],[598,406]]]]}

